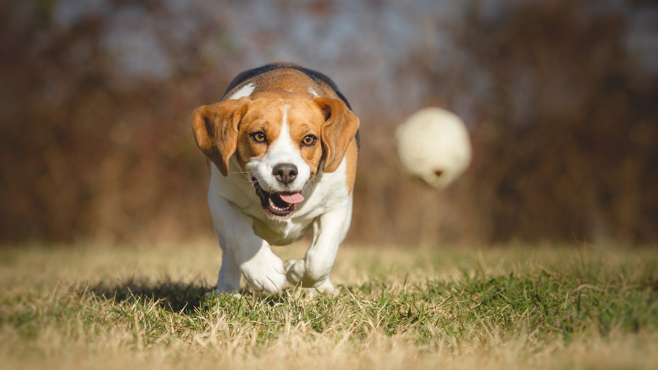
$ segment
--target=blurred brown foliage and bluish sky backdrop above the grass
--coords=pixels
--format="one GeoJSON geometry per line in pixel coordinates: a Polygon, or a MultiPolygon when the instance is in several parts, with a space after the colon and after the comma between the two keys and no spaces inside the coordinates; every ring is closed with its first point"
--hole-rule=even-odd
{"type": "Polygon", "coordinates": [[[213,236],[191,113],[242,70],[328,74],[361,119],[349,241],[658,242],[658,3],[643,0],[0,2],[0,242],[213,236]],[[395,125],[467,123],[447,190],[395,125]]]}

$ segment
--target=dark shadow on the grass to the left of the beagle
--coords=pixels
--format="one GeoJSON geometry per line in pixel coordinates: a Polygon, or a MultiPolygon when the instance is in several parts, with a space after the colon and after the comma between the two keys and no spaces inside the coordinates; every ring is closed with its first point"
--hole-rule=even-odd
{"type": "Polygon", "coordinates": [[[209,290],[212,288],[199,282],[180,282],[170,278],[151,282],[128,278],[110,284],[101,282],[91,286],[88,291],[97,297],[116,302],[159,301],[159,305],[168,311],[190,313],[201,305],[209,290]]]}

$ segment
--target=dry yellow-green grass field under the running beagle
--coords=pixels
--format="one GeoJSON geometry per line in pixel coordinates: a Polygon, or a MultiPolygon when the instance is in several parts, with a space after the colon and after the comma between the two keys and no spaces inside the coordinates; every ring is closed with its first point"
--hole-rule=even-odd
{"type": "MultiPolygon", "coordinates": [[[[285,258],[301,246],[275,248],[285,258]]],[[[338,296],[204,296],[213,242],[0,250],[5,369],[655,369],[658,253],[356,248],[338,296]]]]}

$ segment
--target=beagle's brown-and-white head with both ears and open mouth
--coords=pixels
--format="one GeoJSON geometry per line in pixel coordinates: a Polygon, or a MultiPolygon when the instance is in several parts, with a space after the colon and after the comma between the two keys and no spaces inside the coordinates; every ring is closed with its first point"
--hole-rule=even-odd
{"type": "Polygon", "coordinates": [[[359,119],[340,99],[293,92],[263,92],[204,105],[194,111],[194,138],[217,169],[242,172],[253,182],[270,217],[286,217],[322,163],[334,172],[359,119]],[[230,169],[236,155],[240,169],[230,169]]]}

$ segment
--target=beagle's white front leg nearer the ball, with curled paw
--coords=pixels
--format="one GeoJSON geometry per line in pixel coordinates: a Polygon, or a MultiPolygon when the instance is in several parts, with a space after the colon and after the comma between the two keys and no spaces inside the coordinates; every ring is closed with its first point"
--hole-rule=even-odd
{"type": "Polygon", "coordinates": [[[338,246],[347,234],[351,218],[351,201],[324,213],[313,223],[313,243],[304,259],[288,261],[286,278],[291,284],[334,292],[329,273],[334,266],[338,246]]]}

